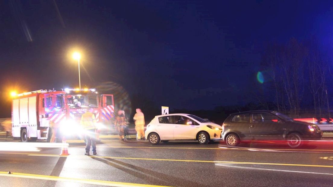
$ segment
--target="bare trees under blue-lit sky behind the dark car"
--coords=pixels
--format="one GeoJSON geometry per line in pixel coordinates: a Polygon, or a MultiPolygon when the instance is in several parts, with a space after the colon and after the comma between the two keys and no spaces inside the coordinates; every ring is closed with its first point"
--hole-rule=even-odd
{"type": "Polygon", "coordinates": [[[329,64],[316,39],[299,42],[292,38],[286,44],[268,45],[261,66],[271,79],[267,85],[274,90],[276,109],[292,116],[305,111],[329,116],[329,64]]]}

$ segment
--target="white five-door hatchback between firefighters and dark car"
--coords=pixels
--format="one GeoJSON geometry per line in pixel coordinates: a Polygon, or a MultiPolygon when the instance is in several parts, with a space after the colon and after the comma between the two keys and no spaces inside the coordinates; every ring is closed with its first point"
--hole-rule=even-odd
{"type": "Polygon", "coordinates": [[[222,127],[198,116],[184,113],[157,115],[147,125],[146,139],[154,145],[160,141],[198,140],[206,144],[221,139],[222,127]]]}

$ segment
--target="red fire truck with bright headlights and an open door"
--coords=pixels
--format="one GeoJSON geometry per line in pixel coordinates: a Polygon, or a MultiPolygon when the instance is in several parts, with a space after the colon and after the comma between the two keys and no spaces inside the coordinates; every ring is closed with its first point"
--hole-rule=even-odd
{"type": "Polygon", "coordinates": [[[50,139],[50,124],[54,123],[61,137],[81,136],[81,116],[89,107],[94,108],[98,133],[108,131],[115,120],[112,94],[98,95],[96,89],[87,88],[17,94],[12,102],[12,135],[22,142],[50,139]]]}

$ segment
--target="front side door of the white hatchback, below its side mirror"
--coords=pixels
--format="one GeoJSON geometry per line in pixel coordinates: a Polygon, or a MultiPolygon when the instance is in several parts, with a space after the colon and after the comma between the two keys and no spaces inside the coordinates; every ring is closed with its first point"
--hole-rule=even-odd
{"type": "Polygon", "coordinates": [[[177,140],[193,140],[199,129],[199,125],[194,120],[185,116],[176,116],[174,128],[174,139],[177,140]],[[178,118],[177,118],[178,117],[178,118]]]}

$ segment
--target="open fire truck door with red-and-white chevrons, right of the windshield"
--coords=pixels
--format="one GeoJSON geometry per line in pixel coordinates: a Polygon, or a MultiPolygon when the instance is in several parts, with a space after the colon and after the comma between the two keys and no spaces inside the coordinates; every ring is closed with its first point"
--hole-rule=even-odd
{"type": "Polygon", "coordinates": [[[109,121],[115,116],[115,106],[113,102],[113,95],[102,94],[101,95],[101,112],[100,119],[109,121]]]}

